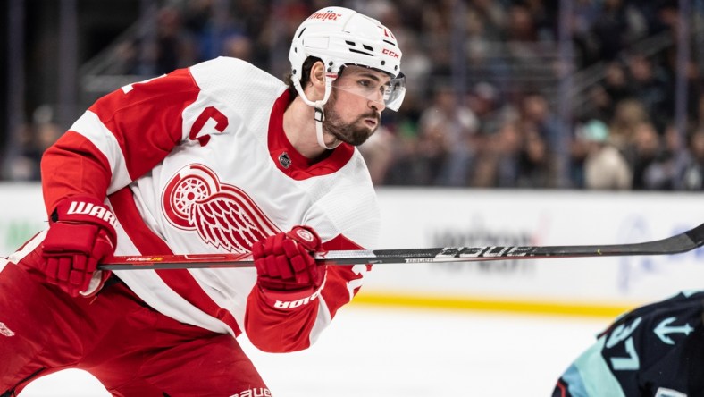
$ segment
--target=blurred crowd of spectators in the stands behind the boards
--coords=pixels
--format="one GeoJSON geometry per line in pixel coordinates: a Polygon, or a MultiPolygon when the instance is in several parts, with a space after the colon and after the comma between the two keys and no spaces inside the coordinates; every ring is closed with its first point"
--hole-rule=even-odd
{"type": "MultiPolygon", "coordinates": [[[[599,190],[704,189],[704,91],[691,10],[686,122],[675,119],[678,13],[672,0],[353,0],[404,52],[408,91],[360,149],[377,185],[599,190]],[[560,29],[573,72],[595,70],[582,101],[560,112],[560,29]],[[661,49],[639,44],[665,38],[661,49]],[[596,66],[599,66],[598,68],[596,66]],[[541,77],[543,76],[543,77],[541,77]],[[680,131],[686,124],[686,131],[680,131]]],[[[113,46],[105,73],[155,76],[218,55],[283,76],[290,38],[314,10],[302,0],[160,2],[153,30],[113,46]]],[[[564,51],[564,49],[562,50],[564,51]]],[[[570,91],[572,92],[572,91],[570,91]]],[[[10,179],[38,179],[63,133],[38,109],[10,179]]]]}

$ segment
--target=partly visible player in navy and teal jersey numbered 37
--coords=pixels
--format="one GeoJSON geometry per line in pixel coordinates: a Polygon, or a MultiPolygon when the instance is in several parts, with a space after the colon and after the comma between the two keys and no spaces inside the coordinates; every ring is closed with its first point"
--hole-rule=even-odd
{"type": "Polygon", "coordinates": [[[616,319],[560,376],[553,397],[704,396],[704,291],[616,319]]]}

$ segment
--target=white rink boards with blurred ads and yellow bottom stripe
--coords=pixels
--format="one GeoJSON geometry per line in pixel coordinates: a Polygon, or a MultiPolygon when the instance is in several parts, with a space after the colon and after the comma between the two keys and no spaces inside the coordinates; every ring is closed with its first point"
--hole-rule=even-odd
{"type": "MultiPolygon", "coordinates": [[[[704,223],[695,193],[379,189],[374,249],[615,244],[704,223]]],[[[0,254],[46,226],[38,184],[0,184],[0,254]]],[[[379,265],[362,304],[612,317],[704,286],[704,250],[675,256],[379,265]]]]}

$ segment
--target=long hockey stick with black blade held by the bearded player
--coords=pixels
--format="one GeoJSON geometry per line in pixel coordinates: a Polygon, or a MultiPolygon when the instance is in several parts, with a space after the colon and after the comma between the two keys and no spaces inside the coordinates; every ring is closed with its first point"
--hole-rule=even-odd
{"type": "MultiPolygon", "coordinates": [[[[704,224],[663,240],[609,245],[445,247],[431,249],[359,249],[330,251],[315,259],[324,265],[387,263],[472,262],[501,259],[588,258],[626,255],[672,255],[704,245],[704,224]]],[[[197,269],[214,267],[251,267],[249,254],[197,254],[127,256],[106,259],[100,268],[197,269]]]]}

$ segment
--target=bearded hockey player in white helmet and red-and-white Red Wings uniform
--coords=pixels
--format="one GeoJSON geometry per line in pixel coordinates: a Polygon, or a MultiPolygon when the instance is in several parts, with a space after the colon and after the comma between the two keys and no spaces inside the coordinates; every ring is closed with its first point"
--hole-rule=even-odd
{"type": "Polygon", "coordinates": [[[49,225],[0,262],[0,395],[80,368],[118,396],[268,396],[240,349],[308,348],[370,266],[379,208],[356,150],[405,93],[390,30],[329,7],[288,85],[220,57],[90,106],[42,159],[49,225]],[[112,255],[252,252],[255,268],[101,271],[112,255]]]}

